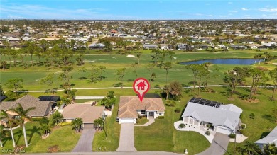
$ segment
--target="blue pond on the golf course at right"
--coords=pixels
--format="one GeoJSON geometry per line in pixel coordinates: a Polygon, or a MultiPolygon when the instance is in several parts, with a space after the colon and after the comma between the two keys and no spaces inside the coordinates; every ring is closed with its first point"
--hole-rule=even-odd
{"type": "Polygon", "coordinates": [[[203,64],[205,62],[210,62],[212,64],[259,64],[259,62],[264,62],[263,59],[202,59],[191,62],[180,62],[180,64],[203,64]]]}

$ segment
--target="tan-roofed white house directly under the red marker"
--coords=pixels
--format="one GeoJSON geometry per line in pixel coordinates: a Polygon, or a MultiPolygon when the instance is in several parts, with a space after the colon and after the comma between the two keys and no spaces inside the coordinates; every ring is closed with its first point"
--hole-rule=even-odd
{"type": "Polygon", "coordinates": [[[138,115],[149,117],[164,116],[165,105],[161,98],[143,98],[137,96],[121,96],[119,101],[119,124],[124,122],[136,123],[138,115]]]}

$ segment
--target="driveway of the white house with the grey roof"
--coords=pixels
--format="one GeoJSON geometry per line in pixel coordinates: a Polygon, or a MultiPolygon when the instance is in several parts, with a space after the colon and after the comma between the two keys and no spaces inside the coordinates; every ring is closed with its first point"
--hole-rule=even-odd
{"type": "Polygon", "coordinates": [[[230,138],[228,137],[227,134],[216,133],[214,135],[214,140],[212,141],[211,146],[205,151],[202,151],[200,154],[197,154],[197,155],[211,155],[211,154],[223,155],[225,154],[225,151],[227,151],[229,139],[230,138]]]}

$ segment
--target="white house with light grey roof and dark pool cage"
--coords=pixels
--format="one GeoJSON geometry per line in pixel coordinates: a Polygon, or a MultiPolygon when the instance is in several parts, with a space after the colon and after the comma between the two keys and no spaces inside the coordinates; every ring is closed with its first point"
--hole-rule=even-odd
{"type": "Polygon", "coordinates": [[[188,125],[212,125],[214,132],[232,134],[238,129],[241,108],[233,104],[223,105],[216,101],[192,98],[182,115],[188,125]]]}

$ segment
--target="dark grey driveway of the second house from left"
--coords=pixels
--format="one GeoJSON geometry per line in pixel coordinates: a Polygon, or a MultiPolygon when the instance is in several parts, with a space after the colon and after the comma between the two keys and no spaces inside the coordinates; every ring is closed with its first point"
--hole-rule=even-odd
{"type": "Polygon", "coordinates": [[[82,135],[72,152],[92,152],[92,140],[95,134],[93,128],[84,128],[82,135]]]}

